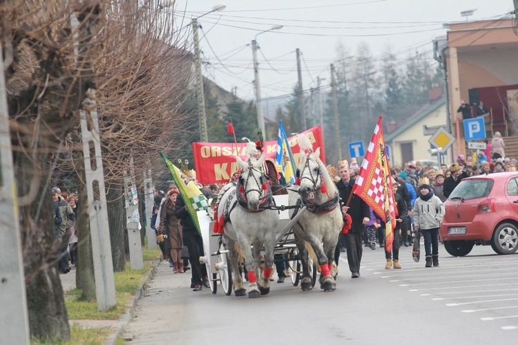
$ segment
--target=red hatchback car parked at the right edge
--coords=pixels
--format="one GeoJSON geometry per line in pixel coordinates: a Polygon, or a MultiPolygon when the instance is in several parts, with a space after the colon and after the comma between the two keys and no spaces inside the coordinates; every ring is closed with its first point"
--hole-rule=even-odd
{"type": "Polygon", "coordinates": [[[439,235],[454,257],[473,245],[491,245],[498,254],[518,250],[518,171],[465,178],[444,205],[439,235]]]}

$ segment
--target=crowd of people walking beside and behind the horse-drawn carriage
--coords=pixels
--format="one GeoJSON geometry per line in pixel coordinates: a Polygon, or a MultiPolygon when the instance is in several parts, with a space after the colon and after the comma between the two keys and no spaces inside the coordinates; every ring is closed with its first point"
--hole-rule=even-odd
{"type": "MultiPolygon", "coordinates": [[[[463,109],[460,109],[463,110],[463,109]]],[[[262,144],[257,142],[257,156],[262,154],[262,144]]],[[[399,249],[408,247],[414,241],[414,231],[421,232],[425,242],[425,267],[439,265],[439,227],[445,215],[443,202],[459,185],[463,178],[477,174],[495,174],[501,171],[516,171],[518,161],[506,158],[505,144],[499,132],[494,138],[486,140],[486,149],[479,150],[473,156],[459,154],[457,162],[441,165],[435,170],[431,165],[423,166],[421,162],[415,165],[406,164],[403,169],[393,167],[392,188],[396,207],[396,227],[393,236],[392,250],[387,251],[385,245],[385,220],[376,214],[363,199],[352,194],[352,188],[359,172],[356,159],[351,163],[347,160],[338,162],[338,169],[328,165],[329,175],[332,176],[340,199],[343,212],[352,218],[352,227],[347,234],[340,234],[335,250],[335,262],[338,265],[340,252],[347,252],[347,262],[352,278],[360,277],[363,247],[376,249],[385,248],[385,268],[400,269],[399,249]],[[413,227],[413,229],[412,229],[413,227]]],[[[275,194],[285,194],[285,180],[269,160],[265,161],[265,174],[271,180],[275,194]],[[270,164],[269,164],[270,163],[270,164]]],[[[194,170],[184,171],[186,176],[200,187],[200,191],[208,199],[216,198],[218,192],[226,183],[199,185],[194,170]]],[[[231,178],[230,183],[236,183],[231,178]]],[[[52,188],[55,214],[55,236],[59,257],[57,268],[62,274],[70,272],[70,265],[77,265],[77,195],[61,193],[58,187],[52,188]]],[[[207,268],[200,264],[198,258],[203,253],[202,237],[195,228],[176,186],[171,186],[168,192],[156,191],[154,197],[151,227],[155,230],[157,243],[162,250],[164,259],[169,261],[173,273],[184,273],[191,270],[191,288],[194,291],[209,287],[207,268]],[[189,259],[193,258],[193,259],[189,259]],[[189,267],[189,263],[191,267],[189,267]]],[[[289,270],[283,254],[276,254],[276,271],[278,283],[282,283],[289,270]]],[[[245,272],[246,274],[246,272],[245,272]]],[[[272,273],[272,280],[274,280],[272,273]]]]}

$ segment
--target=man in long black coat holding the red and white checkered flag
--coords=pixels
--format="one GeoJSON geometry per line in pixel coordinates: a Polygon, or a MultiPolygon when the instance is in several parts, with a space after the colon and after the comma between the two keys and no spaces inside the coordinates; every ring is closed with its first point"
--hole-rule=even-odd
{"type": "MultiPolygon", "coordinates": [[[[342,199],[342,203],[347,204],[349,196],[352,193],[354,180],[351,179],[349,171],[349,163],[347,160],[338,162],[338,174],[341,180],[336,183],[338,193],[342,199]]],[[[353,194],[349,205],[343,207],[343,211],[347,212],[352,218],[352,225],[349,232],[345,234],[345,247],[347,248],[347,261],[349,261],[349,270],[352,272],[352,278],[360,277],[360,263],[363,254],[363,232],[365,224],[370,221],[370,208],[362,198],[353,194]]],[[[335,250],[335,262],[338,265],[340,250],[335,250]],[[338,254],[338,255],[337,255],[338,254]]]]}

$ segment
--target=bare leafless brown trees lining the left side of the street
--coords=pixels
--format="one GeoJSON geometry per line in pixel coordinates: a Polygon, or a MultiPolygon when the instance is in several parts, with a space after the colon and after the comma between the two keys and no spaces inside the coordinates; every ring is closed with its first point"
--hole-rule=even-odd
{"type": "MultiPolygon", "coordinates": [[[[80,204],[86,204],[78,130],[79,110],[90,110],[84,105],[86,97],[95,101],[99,113],[107,187],[103,192],[113,193],[119,214],[124,214],[122,174],[129,157],[137,174],[152,165],[153,153],[174,144],[175,136],[168,134],[181,131],[188,115],[178,109],[191,73],[185,50],[189,46],[180,44],[184,40],[174,30],[173,16],[162,15],[157,3],[144,1],[140,8],[135,3],[15,0],[0,6],[33,337],[70,335],[56,269],[49,191],[52,184],[73,176],[80,204]],[[71,14],[78,19],[77,27],[71,24],[71,14]]],[[[89,233],[88,223],[81,221],[84,212],[79,213],[79,234],[89,233]]],[[[125,216],[118,216],[111,222],[112,238],[124,239],[124,227],[125,216]]],[[[86,244],[81,243],[88,248],[86,244]]],[[[115,248],[117,259],[124,258],[120,243],[115,248]]],[[[79,257],[79,270],[91,272],[90,260],[83,259],[81,263],[79,257]]],[[[93,275],[82,274],[80,282],[92,290],[93,275]]]]}

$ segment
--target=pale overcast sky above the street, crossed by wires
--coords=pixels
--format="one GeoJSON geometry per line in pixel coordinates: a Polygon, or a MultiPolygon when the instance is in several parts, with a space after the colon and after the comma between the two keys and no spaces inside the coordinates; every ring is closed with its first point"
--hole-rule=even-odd
{"type": "Polygon", "coordinates": [[[373,57],[383,57],[391,46],[397,59],[405,60],[416,50],[432,50],[432,39],[446,33],[443,23],[466,21],[461,16],[464,10],[477,9],[470,21],[500,18],[513,10],[512,0],[179,0],[178,26],[220,3],[227,8],[198,19],[200,48],[209,63],[203,67],[204,75],[227,91],[236,87],[245,100],[255,98],[251,41],[276,24],[284,27],[257,37],[263,98],[293,91],[296,48],[303,54],[307,90],[316,86],[317,77],[329,84],[329,64],[338,60],[340,43],[351,57],[358,43],[365,41],[373,57]]]}

